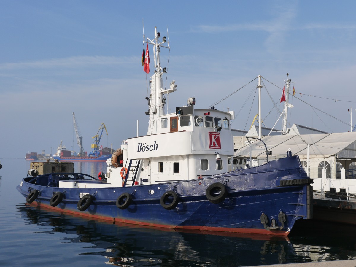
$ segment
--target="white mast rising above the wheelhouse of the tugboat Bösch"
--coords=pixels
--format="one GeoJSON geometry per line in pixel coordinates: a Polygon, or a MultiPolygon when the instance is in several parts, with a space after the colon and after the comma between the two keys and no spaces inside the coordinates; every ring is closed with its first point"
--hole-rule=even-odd
{"type": "Polygon", "coordinates": [[[159,40],[161,38],[161,34],[157,32],[157,27],[155,27],[155,38],[150,40],[147,38],[147,41],[143,40],[143,43],[148,43],[153,45],[153,58],[155,61],[155,74],[151,76],[151,89],[150,89],[150,98],[149,98],[149,115],[150,121],[148,124],[148,131],[147,135],[152,135],[157,133],[157,125],[158,125],[158,117],[164,115],[164,101],[163,101],[163,94],[171,93],[176,91],[177,85],[174,84],[174,80],[170,84],[169,89],[163,89],[163,81],[162,81],[162,74],[166,73],[165,68],[161,68],[161,62],[159,61],[159,53],[161,47],[165,47],[169,49],[169,42],[168,46],[163,46],[163,43],[166,43],[166,37],[162,37],[162,41],[159,40]],[[156,123],[155,123],[156,121],[156,123]]]}

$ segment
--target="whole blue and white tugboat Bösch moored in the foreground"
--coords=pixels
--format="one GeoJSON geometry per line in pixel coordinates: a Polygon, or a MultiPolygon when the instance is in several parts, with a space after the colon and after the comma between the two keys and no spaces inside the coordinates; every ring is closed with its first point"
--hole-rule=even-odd
{"type": "Polygon", "coordinates": [[[30,173],[17,190],[32,205],[91,219],[150,227],[286,236],[296,220],[313,216],[313,180],[298,156],[228,172],[234,155],[230,120],[234,112],[195,109],[195,98],[164,113],[161,48],[169,41],[155,27],[153,40],[143,36],[145,71],[148,45],[154,49],[150,78],[147,135],[122,142],[107,172],[98,178],[83,173],[30,173]],[[145,48],[144,48],[145,49],[145,48]]]}

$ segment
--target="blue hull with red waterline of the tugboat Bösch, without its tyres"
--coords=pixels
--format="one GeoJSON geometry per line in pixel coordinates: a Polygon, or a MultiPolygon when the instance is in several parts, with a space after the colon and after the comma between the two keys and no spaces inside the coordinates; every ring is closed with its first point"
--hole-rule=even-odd
{"type": "Polygon", "coordinates": [[[35,205],[153,227],[288,235],[297,219],[312,217],[312,179],[304,172],[298,156],[210,178],[133,187],[58,188],[49,179],[52,176],[22,179],[17,190],[24,197],[38,190],[35,205]],[[214,183],[226,188],[226,198],[220,203],[208,199],[207,188],[214,183]],[[169,210],[161,204],[163,194],[168,191],[175,192],[178,199],[177,206],[169,210]],[[52,207],[49,203],[56,192],[62,192],[64,197],[52,207]],[[80,193],[93,196],[93,202],[84,211],[77,208],[80,193]],[[125,209],[116,206],[122,193],[132,197],[132,203],[125,209]]]}

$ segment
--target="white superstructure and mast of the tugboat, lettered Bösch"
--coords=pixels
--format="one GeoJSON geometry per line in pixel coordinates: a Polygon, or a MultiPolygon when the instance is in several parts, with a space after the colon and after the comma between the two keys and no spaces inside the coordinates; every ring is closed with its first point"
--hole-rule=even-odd
{"type": "Polygon", "coordinates": [[[126,177],[128,185],[142,185],[205,178],[229,171],[227,158],[234,155],[230,129],[233,111],[218,111],[214,107],[194,109],[195,98],[189,98],[187,105],[164,114],[166,95],[177,90],[174,80],[168,89],[163,88],[162,75],[166,69],[161,67],[159,52],[161,47],[169,49],[169,42],[168,46],[163,45],[165,39],[160,41],[155,28],[155,38],[144,40],[153,45],[155,59],[147,98],[147,135],[123,142],[122,166],[114,167],[108,160],[108,183],[118,176],[122,180],[126,177]]]}

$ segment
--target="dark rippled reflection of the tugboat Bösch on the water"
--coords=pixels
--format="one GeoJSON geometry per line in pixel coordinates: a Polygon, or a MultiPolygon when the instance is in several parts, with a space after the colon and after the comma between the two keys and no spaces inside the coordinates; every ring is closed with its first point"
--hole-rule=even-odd
{"type": "MultiPolygon", "coordinates": [[[[247,266],[288,263],[294,258],[288,237],[199,231],[165,231],[107,221],[88,220],[28,204],[17,206],[38,234],[61,232],[61,244],[84,242],[81,255],[103,256],[103,263],[127,266],[247,266]],[[223,235],[221,235],[223,234],[223,235]],[[65,242],[65,240],[67,242],[65,242]],[[99,250],[98,250],[99,249],[99,250]],[[94,252],[93,252],[94,251],[94,252]]],[[[58,248],[60,249],[60,248],[58,248]]]]}

